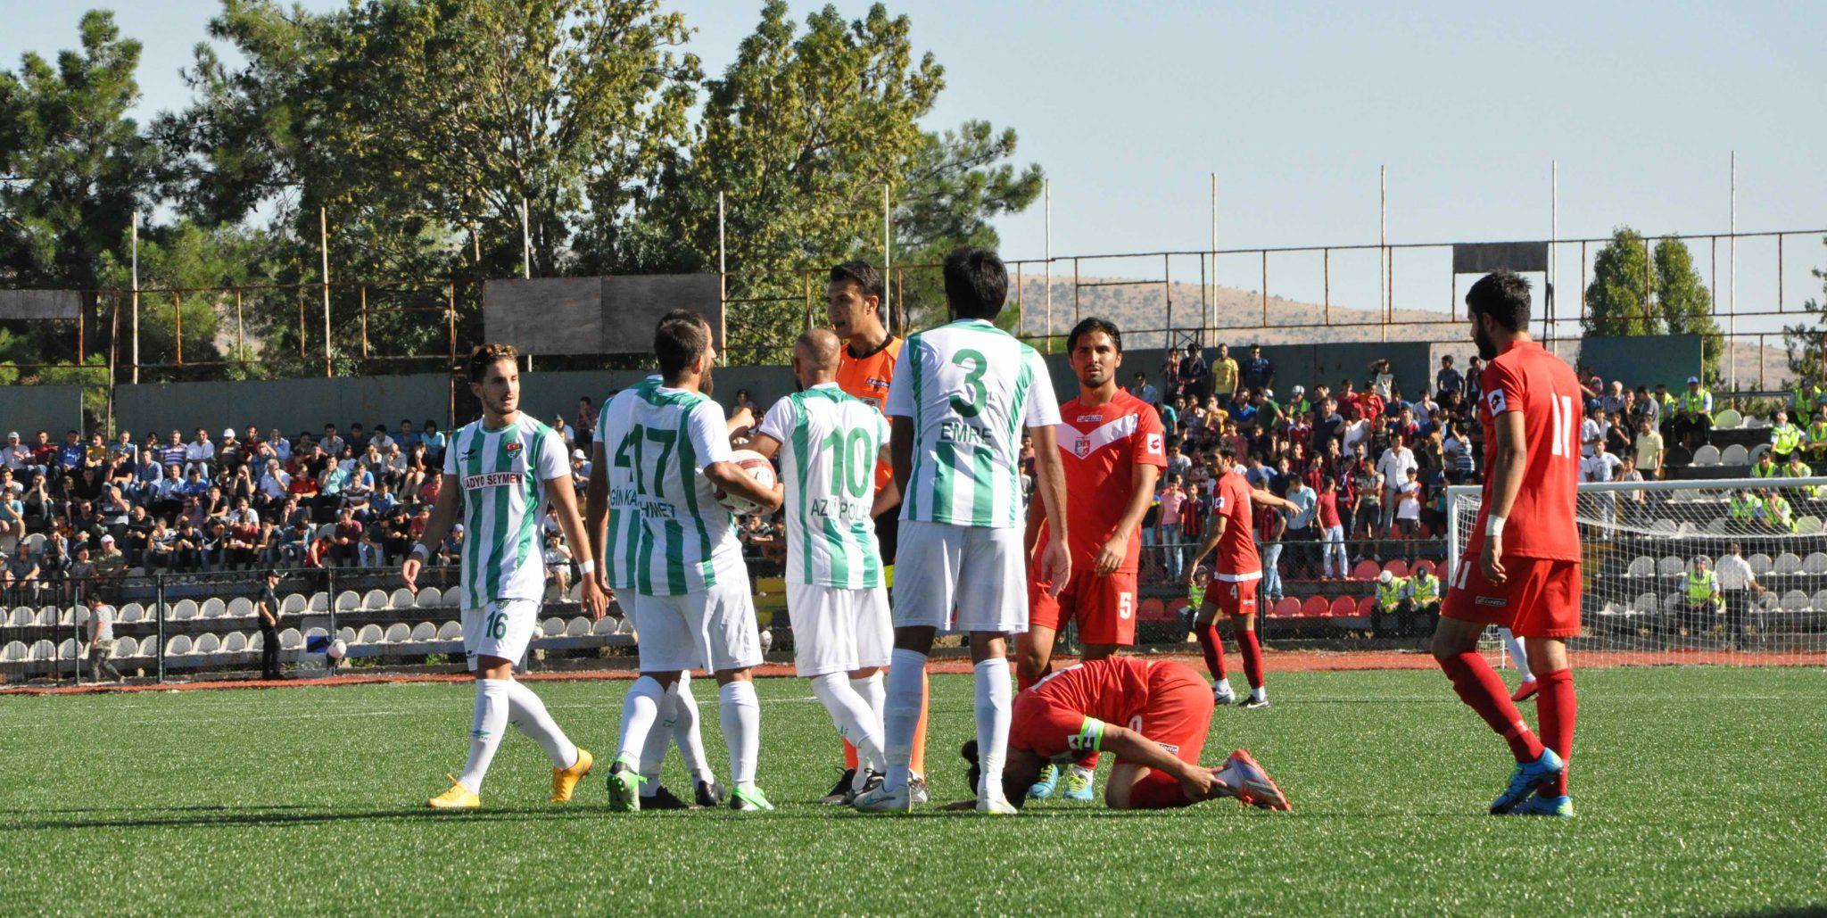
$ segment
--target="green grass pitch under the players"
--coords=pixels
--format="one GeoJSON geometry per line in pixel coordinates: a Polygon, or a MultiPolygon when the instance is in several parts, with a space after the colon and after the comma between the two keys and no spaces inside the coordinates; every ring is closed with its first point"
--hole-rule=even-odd
{"type": "MultiPolygon", "coordinates": [[[[627,682],[539,682],[607,763],[627,682]]],[[[932,785],[965,794],[970,678],[935,677],[932,785]]],[[[767,816],[610,814],[599,772],[544,805],[510,733],[484,810],[459,684],[0,697],[0,911],[35,913],[1781,913],[1827,907],[1827,675],[1580,675],[1573,821],[1496,819],[1502,742],[1429,671],[1272,673],[1220,710],[1294,814],[861,816],[804,803],[837,741],[806,682],[762,695],[767,816]]],[[[703,733],[722,775],[714,689],[703,733]]],[[[1533,708],[1533,704],[1529,706],[1533,708]]],[[[1533,715],[1533,711],[1529,711],[1533,715]]],[[[1100,770],[1102,779],[1107,766],[1100,770]]],[[[667,781],[683,785],[678,757],[667,781]]]]}

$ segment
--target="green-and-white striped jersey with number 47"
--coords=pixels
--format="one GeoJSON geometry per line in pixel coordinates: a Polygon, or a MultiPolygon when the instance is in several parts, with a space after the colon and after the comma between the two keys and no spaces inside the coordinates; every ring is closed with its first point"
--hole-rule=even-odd
{"type": "Polygon", "coordinates": [[[634,591],[680,596],[740,576],[736,519],[703,477],[703,466],[731,455],[723,406],[696,391],[636,390],[627,432],[603,441],[610,468],[634,477],[639,538],[618,545],[634,591]]]}

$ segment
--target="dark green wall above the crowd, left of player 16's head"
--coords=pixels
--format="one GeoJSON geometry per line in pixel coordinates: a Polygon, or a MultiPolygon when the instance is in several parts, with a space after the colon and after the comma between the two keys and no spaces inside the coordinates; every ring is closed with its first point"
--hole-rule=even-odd
{"type": "Polygon", "coordinates": [[[181,430],[185,437],[197,426],[217,437],[223,428],[245,430],[258,424],[261,433],[280,428],[287,435],[318,433],[334,422],[340,430],[362,422],[373,430],[393,430],[402,417],[415,426],[433,419],[449,426],[449,377],[413,373],[402,377],[278,379],[245,382],[161,382],[119,386],[115,390],[115,426],[141,435],[148,430],[181,430]]]}

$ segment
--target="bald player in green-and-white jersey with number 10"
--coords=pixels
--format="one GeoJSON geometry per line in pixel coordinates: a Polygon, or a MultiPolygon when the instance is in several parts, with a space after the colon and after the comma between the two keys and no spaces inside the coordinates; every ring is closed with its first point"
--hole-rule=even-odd
{"type": "Polygon", "coordinates": [[[873,486],[875,463],[888,455],[888,419],[837,388],[839,347],[826,329],[800,335],[793,346],[800,391],[767,410],[749,448],[780,459],[793,666],[861,753],[848,788],[855,795],[888,768],[882,715],[857,688],[888,666],[893,649],[873,518],[899,503],[899,492],[893,483],[873,486]]]}

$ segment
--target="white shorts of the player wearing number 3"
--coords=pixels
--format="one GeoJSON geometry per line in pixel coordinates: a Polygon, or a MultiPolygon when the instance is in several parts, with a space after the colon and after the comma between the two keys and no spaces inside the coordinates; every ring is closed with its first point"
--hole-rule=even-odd
{"type": "Polygon", "coordinates": [[[1021,530],[903,519],[895,627],[1025,633],[1021,530]]]}

